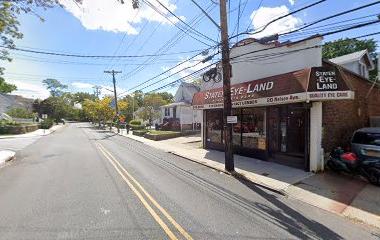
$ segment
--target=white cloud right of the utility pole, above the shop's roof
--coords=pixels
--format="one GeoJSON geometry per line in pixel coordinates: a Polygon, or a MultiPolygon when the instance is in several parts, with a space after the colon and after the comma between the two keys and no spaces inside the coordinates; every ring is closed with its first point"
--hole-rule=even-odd
{"type": "MultiPolygon", "coordinates": [[[[262,29],[265,24],[273,19],[289,13],[289,9],[286,6],[279,7],[260,7],[257,11],[253,11],[251,14],[252,25],[255,31],[262,29]]],[[[261,38],[276,33],[287,32],[297,28],[302,23],[300,18],[292,15],[280,19],[269,26],[262,32],[252,35],[255,38],[261,38]]]]}

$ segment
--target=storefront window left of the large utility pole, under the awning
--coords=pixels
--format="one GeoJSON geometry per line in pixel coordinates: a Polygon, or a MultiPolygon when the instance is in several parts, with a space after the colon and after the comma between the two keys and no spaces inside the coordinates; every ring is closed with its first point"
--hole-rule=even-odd
{"type": "Polygon", "coordinates": [[[206,121],[206,141],[221,144],[223,129],[223,111],[221,109],[208,110],[206,114],[206,121]]]}

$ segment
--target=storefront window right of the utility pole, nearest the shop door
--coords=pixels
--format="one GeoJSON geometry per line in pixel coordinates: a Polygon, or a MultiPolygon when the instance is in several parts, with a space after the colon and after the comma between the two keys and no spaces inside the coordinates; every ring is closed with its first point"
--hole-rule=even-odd
{"type": "Polygon", "coordinates": [[[241,117],[242,146],[266,149],[265,108],[243,108],[241,117]]]}

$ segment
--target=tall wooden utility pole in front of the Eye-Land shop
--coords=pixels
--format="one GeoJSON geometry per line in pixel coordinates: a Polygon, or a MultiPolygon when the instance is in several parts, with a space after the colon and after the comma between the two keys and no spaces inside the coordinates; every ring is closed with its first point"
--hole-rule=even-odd
{"type": "Polygon", "coordinates": [[[224,158],[225,169],[228,172],[235,171],[234,155],[232,150],[232,124],[227,123],[227,116],[231,116],[231,65],[230,47],[228,41],[228,24],[226,0],[220,0],[220,28],[222,40],[222,68],[223,68],[223,133],[224,133],[224,158]]]}

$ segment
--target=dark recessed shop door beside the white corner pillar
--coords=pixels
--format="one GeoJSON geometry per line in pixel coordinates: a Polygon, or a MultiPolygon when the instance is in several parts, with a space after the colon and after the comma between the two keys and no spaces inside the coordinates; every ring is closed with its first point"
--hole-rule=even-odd
{"type": "Polygon", "coordinates": [[[301,104],[268,109],[268,155],[272,161],[305,168],[306,113],[301,104]]]}

